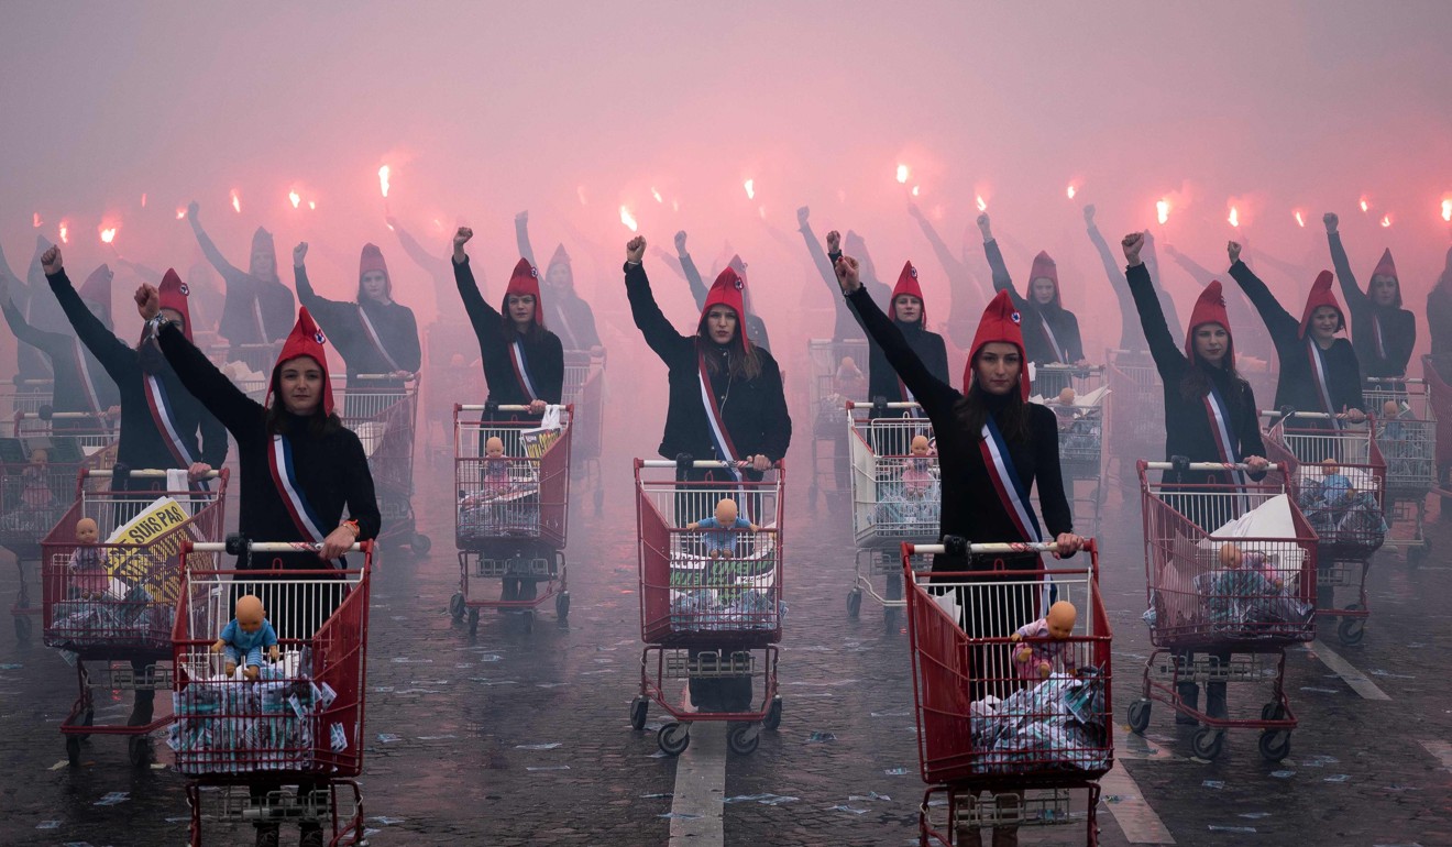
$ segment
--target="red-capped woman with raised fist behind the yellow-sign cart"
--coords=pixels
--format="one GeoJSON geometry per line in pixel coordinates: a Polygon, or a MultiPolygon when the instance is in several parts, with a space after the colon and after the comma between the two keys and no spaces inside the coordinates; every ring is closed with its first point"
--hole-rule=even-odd
{"type": "MultiPolygon", "coordinates": [[[[179,375],[167,365],[157,347],[154,328],[142,328],[141,341],[129,347],[106,328],[81,301],[65,276],[61,248],[51,247],[41,256],[45,279],[55,299],[71,321],[76,336],[106,369],[121,395],[121,443],[112,471],[113,491],[166,491],[164,478],[132,478],[131,469],[186,469],[192,482],[219,468],[227,459],[227,431],[203,405],[195,400],[179,375]],[[200,433],[200,437],[197,434],[200,433]]],[[[150,286],[147,286],[150,288],[150,286]]],[[[176,270],[167,270],[161,280],[167,320],[190,333],[186,308],[187,288],[176,270]]],[[[155,291],[155,289],[152,289],[155,291]]],[[[158,307],[160,308],[160,307],[158,307]]],[[[118,508],[118,526],[134,517],[118,508]]],[[[142,661],[132,662],[145,671],[142,661]]],[[[136,690],[135,708],[128,721],[132,726],[151,724],[154,690],[136,690]]]]}

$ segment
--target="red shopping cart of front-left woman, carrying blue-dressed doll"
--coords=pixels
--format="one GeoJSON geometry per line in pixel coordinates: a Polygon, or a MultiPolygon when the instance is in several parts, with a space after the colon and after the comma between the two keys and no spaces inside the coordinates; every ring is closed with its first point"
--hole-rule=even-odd
{"type": "MultiPolygon", "coordinates": [[[[363,561],[348,570],[224,570],[224,555],[317,551],[309,543],[184,542],[176,625],[176,674],[168,744],[189,779],[192,847],[202,824],[315,824],[328,844],[366,844],[363,703],[367,668],[369,585],[373,545],[354,545],[363,561]],[[232,620],[241,594],[263,601],[277,629],[280,658],[225,673],[213,642],[232,620]],[[306,633],[306,635],[303,635],[306,633]],[[286,790],[283,786],[296,786],[286,790]],[[347,790],[340,790],[347,789],[347,790]]],[[[354,565],[354,562],[348,562],[354,565]]]]}

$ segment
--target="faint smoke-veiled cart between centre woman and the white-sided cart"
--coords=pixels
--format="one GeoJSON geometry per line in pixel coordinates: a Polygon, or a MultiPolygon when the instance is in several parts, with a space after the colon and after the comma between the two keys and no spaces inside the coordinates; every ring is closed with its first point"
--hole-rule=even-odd
{"type": "Polygon", "coordinates": [[[807,402],[812,414],[812,479],[807,497],[815,506],[826,491],[828,504],[845,503],[851,487],[844,402],[867,397],[867,340],[809,339],[807,402]],[[848,363],[847,359],[852,362],[848,363]]]}

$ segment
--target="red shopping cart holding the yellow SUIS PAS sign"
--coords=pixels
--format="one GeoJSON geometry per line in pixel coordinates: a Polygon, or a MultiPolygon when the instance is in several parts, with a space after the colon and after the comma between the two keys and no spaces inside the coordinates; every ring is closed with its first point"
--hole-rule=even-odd
{"type": "MultiPolygon", "coordinates": [[[[166,471],[131,477],[167,481],[166,471]]],[[[180,549],[222,538],[228,478],[224,469],[208,474],[205,490],[115,491],[110,471],[77,474],[76,501],[41,542],[45,645],[74,660],[80,689],[61,719],[71,764],[89,735],[126,735],[132,764],[150,761],[150,734],[171,716],[96,726],[96,693],[171,689],[171,626],[186,570],[180,549]],[[76,523],[87,517],[102,539],[94,545],[76,540],[76,523]]]]}

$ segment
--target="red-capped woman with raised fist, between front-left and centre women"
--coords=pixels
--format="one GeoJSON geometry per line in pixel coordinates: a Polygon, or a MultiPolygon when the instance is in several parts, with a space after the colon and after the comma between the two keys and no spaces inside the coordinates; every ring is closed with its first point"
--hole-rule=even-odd
{"type": "MultiPolygon", "coordinates": [[[[544,328],[540,302],[539,270],[520,259],[504,289],[504,301],[495,309],[479,293],[463,246],[473,238],[473,230],[459,227],[454,232],[454,283],[463,308],[479,339],[484,359],[484,381],[489,386],[489,402],[498,405],[527,405],[529,414],[508,413],[489,416],[494,420],[527,421],[544,414],[546,405],[558,405],[565,391],[565,347],[559,336],[544,328]]],[[[481,442],[482,442],[481,436],[481,442]]],[[[479,445],[484,453],[484,443],[479,445]]],[[[536,578],[504,578],[501,600],[533,600],[536,578]]]]}

